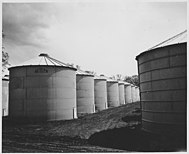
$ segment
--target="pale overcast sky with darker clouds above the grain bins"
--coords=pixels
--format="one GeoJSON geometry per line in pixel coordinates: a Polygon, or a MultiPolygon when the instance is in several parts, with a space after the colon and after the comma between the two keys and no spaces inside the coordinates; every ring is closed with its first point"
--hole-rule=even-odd
{"type": "Polygon", "coordinates": [[[135,57],[187,28],[186,2],[3,3],[12,65],[48,53],[108,76],[137,74],[135,57]]]}

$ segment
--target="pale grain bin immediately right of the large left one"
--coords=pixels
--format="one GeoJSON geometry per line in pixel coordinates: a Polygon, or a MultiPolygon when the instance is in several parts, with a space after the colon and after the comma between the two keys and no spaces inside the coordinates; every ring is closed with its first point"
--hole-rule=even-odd
{"type": "Polygon", "coordinates": [[[77,115],[94,113],[94,75],[77,70],[77,115]]]}

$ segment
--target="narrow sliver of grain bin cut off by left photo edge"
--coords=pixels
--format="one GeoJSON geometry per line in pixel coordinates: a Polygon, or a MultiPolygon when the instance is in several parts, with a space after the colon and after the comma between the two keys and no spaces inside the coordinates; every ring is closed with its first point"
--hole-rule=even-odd
{"type": "Polygon", "coordinates": [[[2,116],[8,116],[9,111],[9,79],[7,76],[2,78],[2,116]]]}

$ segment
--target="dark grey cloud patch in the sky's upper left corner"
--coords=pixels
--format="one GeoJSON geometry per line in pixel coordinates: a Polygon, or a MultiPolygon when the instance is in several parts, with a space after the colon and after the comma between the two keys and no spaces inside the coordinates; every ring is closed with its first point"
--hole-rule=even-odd
{"type": "Polygon", "coordinates": [[[3,32],[12,44],[41,47],[53,16],[47,3],[3,3],[3,32]]]}

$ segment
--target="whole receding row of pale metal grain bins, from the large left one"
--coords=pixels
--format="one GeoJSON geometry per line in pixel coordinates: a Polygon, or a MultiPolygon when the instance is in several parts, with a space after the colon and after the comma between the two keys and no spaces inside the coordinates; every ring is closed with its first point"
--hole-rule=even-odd
{"type": "Polygon", "coordinates": [[[47,54],[9,71],[9,117],[14,120],[74,119],[138,101],[130,84],[94,76],[47,54]]]}

